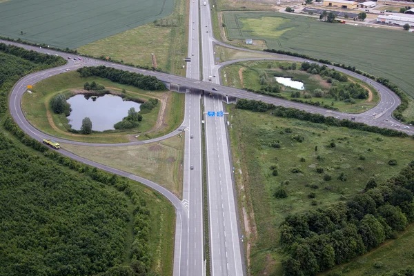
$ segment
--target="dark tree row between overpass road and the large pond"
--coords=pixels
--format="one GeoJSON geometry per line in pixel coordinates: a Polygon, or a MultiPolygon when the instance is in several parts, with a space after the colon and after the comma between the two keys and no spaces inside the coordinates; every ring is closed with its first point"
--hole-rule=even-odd
{"type": "Polygon", "coordinates": [[[144,76],[134,72],[128,72],[106,66],[83,67],[77,70],[81,77],[103,77],[117,83],[135,86],[144,90],[164,90],[166,86],[156,77],[144,76]]]}

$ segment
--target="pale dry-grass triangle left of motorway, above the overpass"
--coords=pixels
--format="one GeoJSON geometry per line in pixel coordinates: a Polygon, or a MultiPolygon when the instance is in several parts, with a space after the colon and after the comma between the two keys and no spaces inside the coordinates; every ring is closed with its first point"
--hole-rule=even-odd
{"type": "Polygon", "coordinates": [[[186,11],[186,1],[175,0],[172,14],[160,21],[159,26],[151,22],[88,43],[77,50],[94,57],[111,57],[141,66],[152,66],[153,53],[158,68],[175,75],[185,75],[186,70],[182,66],[185,65],[184,57],[187,53],[186,11]]]}

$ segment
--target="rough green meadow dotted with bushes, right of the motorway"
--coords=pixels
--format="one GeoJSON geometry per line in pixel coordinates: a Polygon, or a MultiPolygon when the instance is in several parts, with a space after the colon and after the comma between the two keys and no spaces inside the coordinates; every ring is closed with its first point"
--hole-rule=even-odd
{"type": "Polygon", "coordinates": [[[251,275],[282,275],[278,239],[279,224],[286,215],[323,208],[355,195],[369,177],[383,183],[414,159],[411,138],[382,137],[235,110],[234,106],[228,109],[239,204],[248,211],[250,225],[253,222],[244,232],[251,275]],[[304,141],[299,143],[295,137],[304,137],[304,141]],[[331,141],[334,148],[328,147],[331,141]],[[272,143],[279,143],[280,148],[273,148],[272,143]],[[389,166],[390,159],[397,159],[398,165],[389,166]],[[277,176],[271,166],[277,169],[277,176]],[[337,179],[341,172],[348,177],[346,181],[337,179]],[[324,181],[325,173],[331,175],[331,181],[324,181]],[[273,192],[282,181],[288,181],[288,197],[275,199],[273,192]],[[311,193],[315,199],[308,197],[311,193]]]}

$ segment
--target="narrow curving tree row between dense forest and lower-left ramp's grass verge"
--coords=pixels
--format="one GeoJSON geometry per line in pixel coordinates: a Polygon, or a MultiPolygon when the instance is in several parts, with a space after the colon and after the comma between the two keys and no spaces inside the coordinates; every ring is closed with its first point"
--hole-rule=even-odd
{"type": "MultiPolygon", "coordinates": [[[[81,164],[78,161],[60,155],[55,150],[50,150],[50,148],[44,146],[36,139],[28,137],[28,135],[26,135],[10,118],[3,122],[3,126],[23,144],[34,148],[34,150],[42,152],[45,157],[57,162],[60,166],[66,166],[71,170],[82,173],[84,176],[90,177],[91,179],[99,181],[102,184],[114,186],[117,190],[128,195],[132,201],[132,204],[135,206],[133,229],[134,242],[132,243],[131,253],[129,256],[131,259],[130,266],[115,266],[108,270],[108,272],[104,275],[148,275],[151,265],[151,256],[148,249],[148,237],[150,233],[150,224],[148,221],[150,219],[150,212],[146,208],[146,202],[144,199],[142,199],[137,193],[135,193],[134,190],[132,190],[132,188],[130,188],[126,179],[117,177],[117,175],[112,175],[108,172],[97,170],[97,168],[81,164]]],[[[72,275],[77,274],[72,273],[72,275]]]]}

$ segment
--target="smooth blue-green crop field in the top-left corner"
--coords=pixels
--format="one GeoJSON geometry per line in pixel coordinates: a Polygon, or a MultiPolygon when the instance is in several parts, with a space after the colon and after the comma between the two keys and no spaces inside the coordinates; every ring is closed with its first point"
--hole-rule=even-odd
{"type": "Polygon", "coordinates": [[[77,48],[161,19],[174,0],[11,0],[0,3],[0,35],[77,48]]]}

